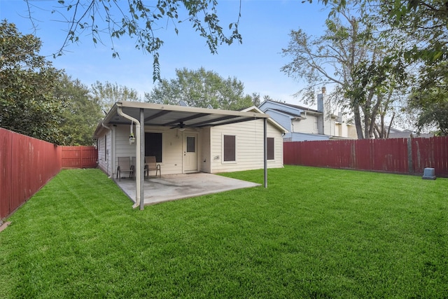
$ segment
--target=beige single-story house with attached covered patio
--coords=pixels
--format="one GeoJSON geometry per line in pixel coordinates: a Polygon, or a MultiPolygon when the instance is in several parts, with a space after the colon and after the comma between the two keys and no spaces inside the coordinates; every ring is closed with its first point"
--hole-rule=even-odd
{"type": "Polygon", "coordinates": [[[265,136],[267,168],[283,167],[282,135],[286,132],[255,106],[227,111],[117,102],[99,123],[94,138],[99,168],[115,178],[118,157],[136,157],[136,153],[141,153],[140,159],[154,155],[162,175],[262,169],[265,136]],[[129,140],[131,130],[139,138],[137,122],[144,132],[140,151],[137,142],[129,140]]]}

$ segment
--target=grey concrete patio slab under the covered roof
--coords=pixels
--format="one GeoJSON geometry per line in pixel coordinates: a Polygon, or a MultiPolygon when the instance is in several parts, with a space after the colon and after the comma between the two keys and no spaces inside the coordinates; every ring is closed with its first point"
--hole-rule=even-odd
{"type": "MultiPolygon", "coordinates": [[[[115,180],[117,185],[135,202],[136,181],[134,179],[115,180]]],[[[170,200],[219,193],[228,190],[261,186],[259,183],[231,179],[216,174],[171,174],[161,178],[151,177],[144,181],[144,203],[157,204],[170,200]]]]}

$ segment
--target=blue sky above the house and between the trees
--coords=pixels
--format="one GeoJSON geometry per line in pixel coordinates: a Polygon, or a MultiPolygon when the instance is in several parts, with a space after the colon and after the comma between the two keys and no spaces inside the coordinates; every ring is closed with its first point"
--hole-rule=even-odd
{"type": "MultiPolygon", "coordinates": [[[[147,1],[150,2],[150,1],[147,1]]],[[[154,1],[153,1],[154,2],[154,1]]],[[[316,1],[314,1],[316,2],[316,1]]],[[[65,55],[55,60],[50,56],[64,41],[66,25],[55,22],[57,15],[51,14],[57,0],[34,0],[31,4],[33,16],[38,21],[35,32],[43,41],[41,55],[49,55],[48,60],[66,74],[78,78],[85,85],[95,81],[118,83],[137,90],[141,97],[153,89],[152,56],[134,48],[132,39],[115,40],[120,58],[113,58],[111,43],[104,38],[106,45],[92,42],[91,36],[80,36],[80,43],[70,44],[65,55]]],[[[215,71],[223,78],[236,77],[244,83],[246,94],[260,93],[273,99],[300,104],[293,94],[303,87],[280,71],[288,63],[282,57],[281,49],[289,42],[291,29],[301,28],[308,34],[319,36],[328,11],[322,11],[321,4],[304,3],[301,0],[243,0],[239,31],[243,43],[231,46],[222,45],[218,54],[212,55],[190,23],[177,25],[179,35],[174,33],[172,23],[162,22],[158,31],[165,41],[160,50],[162,78],[175,78],[175,69],[199,69],[215,71]]],[[[218,0],[218,17],[224,28],[237,20],[238,0],[218,0]]],[[[15,23],[22,34],[34,33],[27,17],[27,6],[22,0],[0,0],[0,18],[15,23]]]]}

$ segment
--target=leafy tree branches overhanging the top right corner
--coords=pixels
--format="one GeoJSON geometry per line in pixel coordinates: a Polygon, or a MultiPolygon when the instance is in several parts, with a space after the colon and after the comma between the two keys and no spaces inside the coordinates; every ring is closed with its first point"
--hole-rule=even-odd
{"type": "MultiPolygon", "coordinates": [[[[308,0],[312,2],[312,0],[308,0]]],[[[402,57],[407,62],[448,60],[448,6],[440,0],[318,0],[332,6],[330,15],[346,6],[358,6],[362,18],[374,19],[381,24],[381,35],[392,41],[388,58],[402,57]]]]}

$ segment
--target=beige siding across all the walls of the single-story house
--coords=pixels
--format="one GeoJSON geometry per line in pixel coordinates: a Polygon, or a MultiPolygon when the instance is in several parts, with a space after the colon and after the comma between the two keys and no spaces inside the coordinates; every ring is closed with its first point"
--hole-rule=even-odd
{"type": "MultiPolygon", "coordinates": [[[[162,133],[162,175],[183,173],[183,140],[186,134],[197,135],[197,165],[201,172],[233,172],[263,168],[263,120],[251,120],[232,125],[186,129],[181,132],[169,127],[146,126],[145,132],[162,133]],[[235,135],[236,161],[223,162],[223,136],[235,135]]],[[[129,144],[130,126],[111,126],[107,134],[109,157],[104,159],[104,134],[99,137],[99,167],[116,177],[118,157],[135,157],[136,146],[129,144]]],[[[137,134],[134,128],[134,134],[137,134]]],[[[267,161],[267,167],[283,167],[283,139],[281,132],[267,123],[267,137],[274,138],[274,160],[267,161]]],[[[138,137],[137,137],[138,138],[138,137]]],[[[154,175],[155,172],[151,173],[154,175]]]]}

